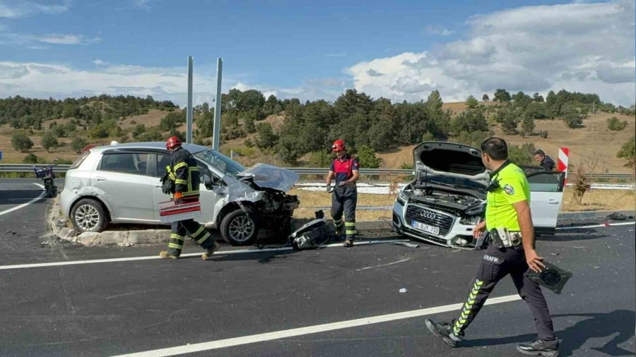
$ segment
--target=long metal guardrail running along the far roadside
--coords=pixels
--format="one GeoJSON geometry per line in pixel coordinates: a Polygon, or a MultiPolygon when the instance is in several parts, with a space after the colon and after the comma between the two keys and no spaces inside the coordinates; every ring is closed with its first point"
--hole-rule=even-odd
{"type": "MultiPolygon", "coordinates": [[[[36,165],[42,166],[42,165],[36,165]]],[[[54,172],[63,173],[66,172],[71,165],[55,165],[53,167],[54,172]]],[[[329,169],[316,168],[316,167],[288,167],[299,174],[304,175],[326,175],[329,169]]],[[[0,172],[33,172],[33,164],[0,164],[0,172]]],[[[361,175],[375,175],[375,176],[409,176],[413,174],[413,170],[403,169],[360,169],[361,175]]],[[[570,172],[572,175],[572,172],[570,172]]],[[[632,174],[611,174],[611,173],[589,173],[586,174],[591,180],[595,179],[616,179],[621,181],[634,181],[634,175],[632,174]]]]}

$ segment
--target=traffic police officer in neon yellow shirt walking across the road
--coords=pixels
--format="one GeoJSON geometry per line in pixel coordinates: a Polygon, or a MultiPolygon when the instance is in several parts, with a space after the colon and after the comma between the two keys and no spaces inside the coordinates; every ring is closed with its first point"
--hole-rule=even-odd
{"type": "Polygon", "coordinates": [[[507,160],[504,140],[489,138],[481,144],[481,151],[483,164],[492,174],[486,188],[485,221],[475,226],[473,236],[481,236],[484,229],[488,229],[490,246],[471,281],[469,296],[459,317],[450,323],[427,319],[426,326],[449,346],[457,346],[497,282],[510,274],[519,296],[529,305],[538,332],[538,339],[519,344],[517,351],[532,356],[558,356],[559,341],[554,334],[546,298],[536,282],[524,277],[528,269],[541,272],[545,267],[534,246],[528,180],[522,169],[507,160]]]}

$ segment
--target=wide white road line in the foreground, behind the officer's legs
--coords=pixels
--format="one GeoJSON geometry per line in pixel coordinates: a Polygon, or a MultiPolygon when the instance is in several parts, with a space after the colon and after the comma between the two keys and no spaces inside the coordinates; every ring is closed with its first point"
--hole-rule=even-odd
{"type": "MultiPolygon", "coordinates": [[[[489,298],[485,305],[494,305],[497,303],[508,303],[510,301],[521,300],[519,295],[501,296],[498,298],[489,298]]],[[[243,344],[254,344],[257,342],[271,341],[275,339],[285,339],[289,337],[301,336],[305,334],[316,334],[319,332],[334,331],[335,329],[347,329],[351,327],[372,325],[382,322],[390,322],[395,320],[403,320],[411,317],[421,317],[426,315],[434,315],[438,313],[448,313],[450,311],[459,310],[464,303],[455,303],[452,305],[437,306],[435,308],[423,308],[420,310],[404,311],[403,313],[392,313],[388,315],[379,315],[372,317],[363,317],[356,320],[332,322],[324,325],[315,325],[307,327],[299,327],[296,329],[284,329],[282,331],[268,332],[264,334],[253,334],[251,336],[235,337],[232,339],[220,339],[217,341],[203,342],[200,344],[188,344],[184,346],[170,347],[167,349],[155,349],[153,351],[143,351],[137,353],[129,353],[119,357],[159,357],[159,356],[175,356],[183,353],[194,353],[201,351],[209,351],[212,349],[224,349],[231,346],[240,346],[243,344]]]]}

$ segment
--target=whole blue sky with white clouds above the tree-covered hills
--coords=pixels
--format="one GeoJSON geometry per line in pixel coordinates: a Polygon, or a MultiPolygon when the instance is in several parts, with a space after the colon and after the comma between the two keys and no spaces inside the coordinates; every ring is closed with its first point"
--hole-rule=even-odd
{"type": "Polygon", "coordinates": [[[453,101],[565,87],[630,105],[634,10],[633,0],[0,0],[0,97],[183,104],[192,55],[197,102],[213,97],[220,56],[224,91],[333,100],[355,87],[413,101],[437,89],[453,101]]]}

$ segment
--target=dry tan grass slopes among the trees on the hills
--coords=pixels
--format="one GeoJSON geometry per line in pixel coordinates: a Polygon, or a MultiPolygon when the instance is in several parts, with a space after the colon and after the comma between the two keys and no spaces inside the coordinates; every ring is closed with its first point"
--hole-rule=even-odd
{"type": "MultiPolygon", "coordinates": [[[[490,106],[496,103],[481,102],[481,104],[490,106]]],[[[444,103],[443,109],[450,109],[453,116],[455,116],[466,109],[466,104],[464,102],[444,103]]],[[[127,140],[132,140],[131,131],[133,131],[136,125],[143,124],[146,128],[158,126],[161,118],[167,113],[169,112],[151,109],[147,114],[129,116],[126,119],[119,120],[118,123],[120,128],[124,131],[124,137],[127,138],[127,140]]],[[[69,118],[56,119],[55,123],[58,125],[65,124],[68,123],[69,120],[69,118]]],[[[258,123],[270,123],[274,130],[277,130],[281,126],[281,123],[283,123],[283,120],[284,113],[281,113],[267,116],[266,119],[258,123]]],[[[42,127],[49,128],[52,122],[53,121],[44,121],[42,127]]],[[[570,162],[573,164],[587,164],[588,167],[591,167],[591,169],[597,172],[630,172],[630,169],[623,167],[623,160],[616,158],[616,152],[618,152],[620,146],[633,135],[636,127],[636,119],[634,117],[624,116],[618,113],[608,114],[600,112],[584,119],[584,127],[577,129],[567,128],[565,123],[559,119],[536,120],[535,123],[535,132],[548,131],[548,138],[544,139],[538,135],[531,135],[526,138],[522,138],[520,135],[506,135],[502,133],[498,124],[493,124],[490,128],[495,135],[505,138],[505,140],[511,144],[534,143],[537,148],[543,149],[554,159],[558,156],[559,147],[570,147],[570,162]],[[607,128],[606,120],[612,116],[616,116],[620,121],[627,121],[628,126],[623,131],[610,131],[607,128]]],[[[27,155],[26,153],[17,152],[13,149],[11,145],[11,135],[14,131],[16,131],[16,129],[13,129],[9,124],[0,126],[0,150],[4,152],[3,163],[20,163],[27,155]]],[[[179,131],[185,131],[185,126],[181,126],[179,131]]],[[[76,152],[71,150],[70,138],[58,138],[60,146],[52,149],[51,152],[46,152],[41,145],[41,137],[44,132],[45,131],[33,131],[33,133],[30,134],[30,138],[35,144],[30,152],[49,162],[54,158],[72,160],[77,157],[76,152]]],[[[111,137],[92,140],[88,138],[88,131],[83,130],[81,126],[78,126],[76,135],[86,138],[88,143],[98,145],[110,143],[111,140],[121,139],[121,137],[111,137]]],[[[247,166],[256,162],[285,166],[273,153],[260,152],[257,147],[247,147],[245,145],[247,139],[254,140],[255,137],[256,134],[249,134],[247,138],[228,140],[221,145],[221,151],[226,155],[229,155],[230,151],[234,151],[237,154],[235,159],[247,166]]],[[[413,162],[411,154],[413,147],[415,147],[415,145],[397,147],[379,152],[378,156],[383,159],[383,167],[398,169],[403,164],[411,164],[413,162]]],[[[306,162],[306,158],[300,160],[300,164],[304,162],[306,162]]]]}

